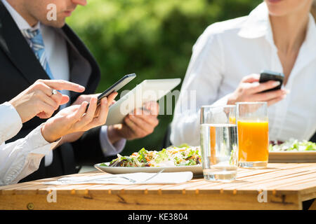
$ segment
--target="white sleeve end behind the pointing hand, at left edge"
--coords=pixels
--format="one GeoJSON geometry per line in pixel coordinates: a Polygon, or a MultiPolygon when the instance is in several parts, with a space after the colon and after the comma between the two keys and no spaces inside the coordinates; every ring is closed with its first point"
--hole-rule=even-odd
{"type": "Polygon", "coordinates": [[[22,128],[20,115],[9,102],[1,104],[0,124],[0,144],[14,137],[22,128]]]}

